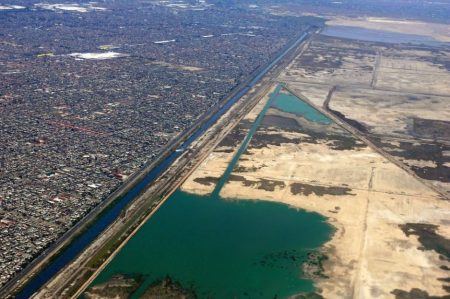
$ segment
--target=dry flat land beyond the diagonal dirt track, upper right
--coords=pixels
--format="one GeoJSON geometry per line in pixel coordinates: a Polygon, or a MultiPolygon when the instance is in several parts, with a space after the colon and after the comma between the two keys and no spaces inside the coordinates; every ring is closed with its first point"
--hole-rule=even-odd
{"type": "Polygon", "coordinates": [[[281,79],[450,196],[450,47],[322,36],[281,79]]]}

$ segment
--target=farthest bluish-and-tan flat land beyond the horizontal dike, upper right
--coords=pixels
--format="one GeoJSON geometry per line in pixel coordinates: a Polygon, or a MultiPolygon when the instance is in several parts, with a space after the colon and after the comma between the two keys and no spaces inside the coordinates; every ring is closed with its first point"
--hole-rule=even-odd
{"type": "Polygon", "coordinates": [[[286,82],[448,96],[450,51],[321,37],[280,76],[286,82]]]}

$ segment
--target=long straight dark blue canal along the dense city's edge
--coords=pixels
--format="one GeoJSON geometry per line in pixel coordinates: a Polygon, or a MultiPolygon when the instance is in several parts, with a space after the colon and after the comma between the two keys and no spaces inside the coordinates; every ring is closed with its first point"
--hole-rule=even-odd
{"type": "MultiPolygon", "coordinates": [[[[238,86],[237,89],[229,96],[227,99],[222,101],[220,105],[211,109],[211,112],[203,116],[196,124],[194,124],[190,129],[180,134],[176,139],[174,139],[161,153],[159,159],[153,163],[148,164],[143,171],[132,176],[125,184],[121,186],[120,189],[116,190],[111,196],[108,197],[102,204],[97,206],[91,213],[89,213],[86,217],[84,217],[81,221],[79,221],[74,227],[72,227],[63,237],[61,237],[56,243],[54,243],[50,248],[44,251],[38,258],[36,258],[28,267],[26,267],[19,275],[17,275],[13,280],[11,280],[7,285],[4,286],[2,291],[0,292],[0,297],[7,297],[7,294],[14,293],[18,288],[22,288],[25,286],[26,292],[19,292],[16,298],[28,298],[31,296],[39,287],[44,285],[53,275],[63,269],[70,261],[75,258],[80,252],[83,251],[84,248],[78,250],[78,252],[72,253],[66,261],[63,262],[63,265],[59,265],[56,269],[53,269],[51,273],[45,274],[42,277],[42,273],[45,273],[45,270],[49,268],[49,265],[52,265],[53,259],[60,258],[61,255],[64,255],[66,251],[70,249],[69,245],[72,245],[74,241],[77,241],[79,238],[79,234],[83,237],[83,233],[85,233],[85,229],[87,226],[96,225],[98,222],[97,218],[102,215],[103,211],[111,205],[117,205],[115,201],[120,199],[121,197],[126,197],[130,192],[133,192],[133,188],[136,185],[139,185],[143,180],[147,178],[147,176],[155,169],[160,167],[161,164],[166,164],[168,167],[175,159],[179,158],[183,155],[183,150],[186,149],[190,143],[199,138],[212,124],[214,124],[220,116],[223,115],[225,111],[227,111],[237,100],[239,100],[243,95],[248,93],[257,83],[277,64],[279,64],[291,50],[296,49],[298,45],[305,40],[307,37],[307,33],[302,34],[298,38],[296,38],[293,42],[288,44],[285,48],[283,48],[279,53],[277,53],[274,58],[271,60],[268,65],[263,66],[257,69],[252,76],[238,86]],[[181,149],[177,151],[176,149],[181,149]],[[176,153],[176,154],[175,154],[176,153]],[[67,250],[66,250],[67,249],[67,250]],[[61,253],[62,252],[62,253],[61,253]],[[41,275],[38,277],[38,281],[33,281],[36,275],[41,275]],[[30,286],[30,282],[32,283],[32,287],[30,286]]],[[[154,181],[164,169],[160,169],[159,173],[153,176],[152,181],[154,181]]],[[[146,182],[146,186],[151,182],[146,182]]],[[[168,184],[170,185],[170,184],[168,184]]],[[[161,191],[161,190],[157,190],[161,191]]],[[[135,192],[133,196],[136,198],[142,191],[135,192]]],[[[120,199],[122,200],[122,199],[120,199]]],[[[129,202],[120,206],[119,212],[121,212],[129,202]]],[[[128,216],[130,212],[127,212],[128,216]]],[[[117,219],[118,215],[114,217],[114,219],[107,225],[109,226],[115,219],[117,219]]],[[[105,227],[106,229],[106,227],[105,227]]],[[[102,234],[104,229],[97,232],[98,235],[102,234]]],[[[94,238],[95,239],[95,238],[94,238]]],[[[93,239],[91,240],[93,241],[93,239]]],[[[86,245],[87,246],[87,245],[86,245]]],[[[53,263],[54,264],[54,263],[53,263]]]]}

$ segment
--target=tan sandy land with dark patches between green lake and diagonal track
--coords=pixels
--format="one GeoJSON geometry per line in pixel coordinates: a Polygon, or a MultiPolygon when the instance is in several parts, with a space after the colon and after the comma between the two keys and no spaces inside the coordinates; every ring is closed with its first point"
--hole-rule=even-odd
{"type": "MultiPolygon", "coordinates": [[[[309,92],[317,94],[314,88],[309,92]]],[[[288,113],[269,109],[266,115],[288,113]]],[[[437,225],[434,238],[448,246],[449,201],[360,141],[345,149],[337,149],[336,140],[311,141],[319,132],[356,140],[335,124],[320,128],[303,121],[294,131],[260,128],[221,197],[276,201],[329,217],[336,228],[324,249],[329,278],[317,281],[324,298],[401,298],[396,296],[412,289],[448,294],[439,279],[448,277],[449,261],[424,245],[423,231],[415,234],[402,225],[437,225]]],[[[184,191],[212,191],[214,182],[202,179],[221,175],[233,154],[223,150],[219,146],[209,155],[183,184],[184,191]]]]}

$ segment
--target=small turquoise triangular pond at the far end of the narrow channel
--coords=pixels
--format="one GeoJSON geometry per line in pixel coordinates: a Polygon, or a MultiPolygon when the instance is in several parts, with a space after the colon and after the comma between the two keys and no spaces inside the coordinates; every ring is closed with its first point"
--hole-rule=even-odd
{"type": "Polygon", "coordinates": [[[272,106],[283,112],[302,116],[309,121],[322,123],[324,125],[331,124],[331,119],[290,93],[280,93],[272,106]]]}

